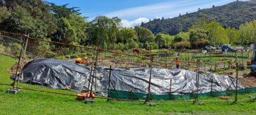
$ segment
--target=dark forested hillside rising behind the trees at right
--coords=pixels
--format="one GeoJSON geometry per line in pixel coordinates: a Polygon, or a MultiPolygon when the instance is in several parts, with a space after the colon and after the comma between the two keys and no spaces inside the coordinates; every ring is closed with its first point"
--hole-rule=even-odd
{"type": "Polygon", "coordinates": [[[200,18],[216,20],[224,28],[238,28],[242,23],[256,19],[256,1],[234,1],[224,6],[213,6],[210,9],[201,9],[179,17],[151,20],[148,23],[142,23],[141,26],[153,33],[165,32],[176,35],[181,31],[188,31],[189,27],[197,23],[200,18]]]}

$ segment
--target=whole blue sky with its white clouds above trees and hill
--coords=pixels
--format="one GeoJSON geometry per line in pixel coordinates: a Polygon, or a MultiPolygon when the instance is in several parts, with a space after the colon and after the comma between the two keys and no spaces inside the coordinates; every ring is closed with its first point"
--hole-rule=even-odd
{"type": "MultiPolygon", "coordinates": [[[[99,15],[119,17],[123,25],[130,27],[158,17],[177,17],[186,12],[196,12],[198,8],[221,6],[236,0],[45,0],[55,4],[69,4],[79,7],[89,21],[99,15]]],[[[240,0],[247,1],[247,0],[240,0]]]]}

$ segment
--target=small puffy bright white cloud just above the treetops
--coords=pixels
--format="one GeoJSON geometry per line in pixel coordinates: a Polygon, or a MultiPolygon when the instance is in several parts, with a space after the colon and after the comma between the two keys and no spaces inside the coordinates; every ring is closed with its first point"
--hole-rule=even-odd
{"type": "Polygon", "coordinates": [[[143,23],[148,23],[149,19],[145,17],[139,17],[136,20],[121,20],[121,26],[122,27],[127,27],[127,28],[132,28],[135,27],[136,25],[140,25],[142,22],[143,23]]]}

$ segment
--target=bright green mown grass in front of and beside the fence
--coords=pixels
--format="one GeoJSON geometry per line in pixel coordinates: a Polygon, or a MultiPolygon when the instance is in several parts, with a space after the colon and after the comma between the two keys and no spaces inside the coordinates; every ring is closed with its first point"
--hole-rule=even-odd
{"type": "MultiPolygon", "coordinates": [[[[15,64],[11,57],[0,55],[0,83],[10,84],[8,69],[15,64]]],[[[66,90],[51,90],[29,84],[21,84],[37,90],[48,90],[76,94],[66,90]]],[[[199,106],[189,103],[162,102],[157,106],[147,106],[144,103],[127,101],[106,101],[96,99],[92,104],[75,100],[67,95],[48,94],[21,90],[16,95],[6,93],[10,86],[0,85],[0,114],[256,114],[256,102],[244,101],[238,104],[227,102],[205,103],[199,106]]],[[[248,98],[246,94],[238,95],[239,99],[248,98]]],[[[233,100],[233,96],[230,98],[233,100]]],[[[219,100],[219,98],[200,98],[199,100],[219,100]]]]}

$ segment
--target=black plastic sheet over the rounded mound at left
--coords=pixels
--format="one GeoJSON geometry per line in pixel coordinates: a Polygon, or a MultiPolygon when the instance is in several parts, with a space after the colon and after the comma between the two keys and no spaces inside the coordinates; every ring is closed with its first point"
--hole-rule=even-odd
{"type": "MultiPolygon", "coordinates": [[[[22,82],[80,92],[88,84],[90,68],[64,60],[36,59],[21,71],[22,82]]],[[[87,86],[88,87],[88,86],[87,86]]]]}

